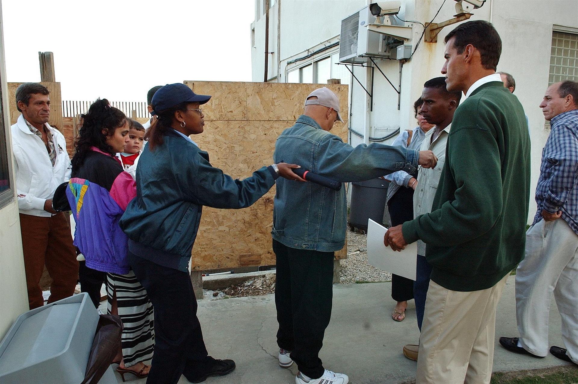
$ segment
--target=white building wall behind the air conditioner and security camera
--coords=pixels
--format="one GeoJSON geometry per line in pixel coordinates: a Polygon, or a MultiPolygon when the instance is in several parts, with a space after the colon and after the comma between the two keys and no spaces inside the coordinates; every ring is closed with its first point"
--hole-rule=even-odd
{"type": "MultiPolygon", "coordinates": [[[[255,3],[262,1],[264,0],[255,0],[255,3]]],[[[307,64],[306,61],[287,64],[287,61],[303,57],[320,47],[338,41],[340,21],[370,2],[372,1],[280,0],[280,82],[286,82],[285,76],[288,69],[307,64]]],[[[443,0],[401,0],[401,2],[402,6],[399,12],[401,19],[417,20],[425,24],[433,19],[442,6],[443,0]]],[[[276,3],[279,4],[277,1],[276,3]]],[[[452,19],[455,14],[454,5],[454,1],[446,1],[434,22],[440,23],[452,19]]],[[[487,0],[484,6],[474,10],[473,13],[470,20],[490,21],[500,34],[502,56],[498,71],[512,73],[516,79],[514,94],[520,99],[528,115],[532,141],[529,212],[529,221],[531,221],[536,209],[533,193],[539,176],[542,147],[549,134],[549,130],[544,126],[542,111],[538,105],[548,86],[553,26],[563,25],[578,28],[578,6],[576,6],[575,0],[551,0],[549,2],[541,0],[487,0]]],[[[261,25],[264,25],[262,20],[261,17],[254,23],[255,35],[263,33],[259,31],[261,25]]],[[[417,23],[413,24],[413,39],[409,42],[412,45],[412,50],[415,49],[424,29],[417,23]]],[[[343,77],[345,80],[349,77],[350,84],[350,128],[364,135],[363,138],[359,138],[357,135],[350,134],[351,145],[369,143],[370,136],[380,138],[387,135],[392,129],[401,128],[404,130],[416,126],[413,117],[413,102],[420,97],[423,84],[428,79],[443,76],[440,73],[444,62],[443,39],[457,25],[443,28],[438,35],[437,43],[426,43],[421,38],[420,46],[414,56],[403,64],[399,110],[397,109],[398,94],[377,69],[373,75],[372,111],[370,110],[370,98],[363,88],[351,76],[343,77]]],[[[264,30],[264,27],[262,29],[264,30]]],[[[275,36],[275,40],[276,38],[277,36],[275,36]]],[[[329,52],[338,52],[338,46],[329,52]]],[[[308,60],[314,61],[323,54],[325,53],[308,60]]],[[[261,56],[253,56],[253,81],[263,80],[261,56]]],[[[397,87],[399,84],[399,61],[375,61],[381,71],[397,87]]],[[[338,67],[344,69],[342,65],[338,67]]],[[[370,90],[369,69],[355,67],[354,73],[370,90]]],[[[349,72],[346,72],[347,74],[349,72]]],[[[342,83],[346,82],[342,81],[342,83]]],[[[388,139],[384,143],[391,143],[393,139],[388,139]]]]}

